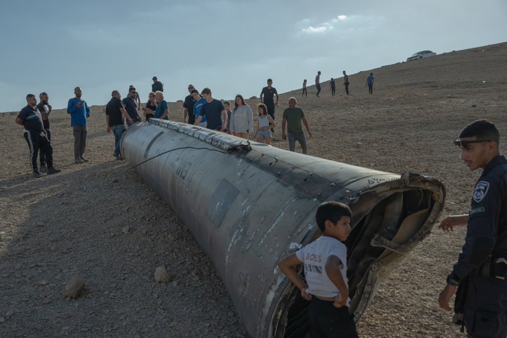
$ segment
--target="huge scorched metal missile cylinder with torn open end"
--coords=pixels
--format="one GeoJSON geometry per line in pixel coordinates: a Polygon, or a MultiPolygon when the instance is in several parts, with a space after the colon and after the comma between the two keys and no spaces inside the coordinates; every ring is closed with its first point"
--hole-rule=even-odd
{"type": "Polygon", "coordinates": [[[382,280],[429,234],[444,205],[441,182],[297,154],[184,123],[131,126],[121,152],[189,227],[253,337],[299,335],[308,302],[278,261],[320,233],[324,201],[352,209],[350,312],[370,305],[382,280]],[[193,147],[193,148],[192,148],[193,147]],[[159,154],[170,151],[154,159],[159,154]],[[203,149],[195,149],[203,148],[203,149]]]}

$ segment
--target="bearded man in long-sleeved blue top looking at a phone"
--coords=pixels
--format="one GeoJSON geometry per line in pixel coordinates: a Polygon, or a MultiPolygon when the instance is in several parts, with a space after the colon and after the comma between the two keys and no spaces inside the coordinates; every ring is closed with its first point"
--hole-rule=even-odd
{"type": "Polygon", "coordinates": [[[74,157],[76,163],[88,162],[83,157],[86,147],[86,119],[90,117],[90,107],[81,99],[82,90],[79,87],[74,89],[76,97],[68,100],[67,114],[70,114],[70,125],[74,129],[74,157]]]}

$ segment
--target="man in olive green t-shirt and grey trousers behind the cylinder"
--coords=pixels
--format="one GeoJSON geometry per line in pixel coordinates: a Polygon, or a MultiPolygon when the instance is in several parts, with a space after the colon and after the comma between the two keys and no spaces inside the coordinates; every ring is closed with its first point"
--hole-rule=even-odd
{"type": "Polygon", "coordinates": [[[285,137],[285,124],[287,125],[287,135],[288,135],[288,148],[289,151],[296,151],[296,140],[298,140],[301,148],[303,149],[303,154],[308,154],[308,148],[306,146],[306,138],[305,133],[303,132],[303,128],[301,127],[301,121],[305,124],[306,130],[308,131],[308,136],[311,138],[312,133],[310,132],[310,128],[308,127],[308,122],[306,121],[305,114],[303,109],[300,107],[296,107],[296,103],[298,101],[295,97],[291,97],[288,99],[288,108],[283,110],[283,120],[282,120],[282,139],[286,139],[285,137]]]}

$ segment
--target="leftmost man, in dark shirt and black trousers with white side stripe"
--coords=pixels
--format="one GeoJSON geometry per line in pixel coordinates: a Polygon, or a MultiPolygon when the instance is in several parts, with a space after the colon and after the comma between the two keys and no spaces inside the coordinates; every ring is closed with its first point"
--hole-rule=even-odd
{"type": "Polygon", "coordinates": [[[35,107],[37,99],[35,95],[26,95],[26,103],[28,103],[16,117],[16,123],[23,126],[23,136],[25,137],[28,148],[30,149],[30,167],[33,177],[41,177],[41,173],[37,168],[37,153],[39,149],[43,149],[46,154],[46,163],[48,165],[48,175],[56,174],[61,169],[53,167],[53,148],[51,142],[46,137],[46,130],[42,122],[41,113],[35,107]]]}

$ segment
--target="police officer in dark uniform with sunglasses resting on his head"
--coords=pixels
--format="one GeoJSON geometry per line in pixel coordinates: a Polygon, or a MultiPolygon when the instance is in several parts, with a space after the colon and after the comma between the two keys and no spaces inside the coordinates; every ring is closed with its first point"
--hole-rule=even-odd
{"type": "Polygon", "coordinates": [[[449,231],[467,224],[465,244],[439,304],[450,311],[449,299],[466,282],[463,319],[472,337],[507,335],[507,159],[498,151],[499,138],[490,121],[478,120],[454,141],[468,169],[483,172],[468,215],[449,216],[439,226],[449,231]]]}

